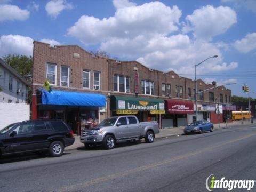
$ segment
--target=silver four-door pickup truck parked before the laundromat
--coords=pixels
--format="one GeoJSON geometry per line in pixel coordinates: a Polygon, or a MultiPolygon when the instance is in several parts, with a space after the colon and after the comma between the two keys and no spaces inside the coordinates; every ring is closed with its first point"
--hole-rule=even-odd
{"type": "Polygon", "coordinates": [[[94,129],[84,129],[80,141],[86,148],[102,143],[106,149],[113,149],[116,141],[134,141],[145,138],[151,143],[159,133],[157,122],[140,123],[136,116],[118,116],[104,119],[94,129]]]}

